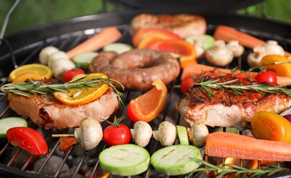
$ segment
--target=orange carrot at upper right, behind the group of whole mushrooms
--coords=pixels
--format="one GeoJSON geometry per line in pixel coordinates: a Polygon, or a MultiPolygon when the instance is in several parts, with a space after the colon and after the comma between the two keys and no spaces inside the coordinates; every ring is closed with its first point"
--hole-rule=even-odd
{"type": "MultiPolygon", "coordinates": [[[[231,40],[237,40],[242,46],[253,49],[257,46],[264,46],[266,42],[264,40],[259,40],[254,36],[245,34],[241,31],[237,31],[232,27],[227,27],[224,25],[220,25],[216,28],[213,34],[216,40],[224,40],[225,42],[229,42],[231,40]]],[[[285,51],[286,56],[290,56],[291,54],[285,51]]]]}

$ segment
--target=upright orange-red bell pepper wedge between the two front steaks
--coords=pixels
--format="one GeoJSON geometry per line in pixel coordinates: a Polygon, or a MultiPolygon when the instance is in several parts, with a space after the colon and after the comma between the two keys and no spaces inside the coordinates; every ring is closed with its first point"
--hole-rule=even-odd
{"type": "Polygon", "coordinates": [[[130,101],[127,110],[127,116],[130,120],[150,122],[163,109],[167,97],[167,87],[161,79],[156,79],[152,85],[154,88],[130,101]]]}

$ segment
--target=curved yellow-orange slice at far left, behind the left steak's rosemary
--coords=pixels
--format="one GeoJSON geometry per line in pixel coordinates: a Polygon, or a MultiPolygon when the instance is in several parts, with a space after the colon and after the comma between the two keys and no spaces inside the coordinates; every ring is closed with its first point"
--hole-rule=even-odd
{"type": "Polygon", "coordinates": [[[43,64],[26,64],[20,66],[19,68],[15,68],[13,71],[11,71],[11,73],[9,74],[9,79],[10,81],[13,81],[17,76],[23,73],[32,72],[37,73],[46,79],[50,79],[53,76],[53,73],[48,66],[45,66],[43,64]]]}

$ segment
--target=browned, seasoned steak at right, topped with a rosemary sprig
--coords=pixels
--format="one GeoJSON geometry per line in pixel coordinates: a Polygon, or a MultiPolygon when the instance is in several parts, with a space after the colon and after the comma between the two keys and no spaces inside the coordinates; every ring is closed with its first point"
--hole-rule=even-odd
{"type": "MultiPolygon", "coordinates": [[[[219,79],[223,82],[233,78],[220,77],[219,79]]],[[[244,86],[255,84],[244,79],[235,82],[240,82],[244,86]]],[[[275,84],[266,83],[266,85],[275,84]]],[[[242,95],[238,95],[225,90],[211,90],[215,94],[212,99],[202,87],[193,86],[178,101],[176,109],[190,125],[197,122],[211,127],[236,127],[244,130],[250,128],[249,123],[256,112],[280,113],[291,105],[290,97],[286,94],[261,94],[245,90],[241,92],[242,95]]]]}

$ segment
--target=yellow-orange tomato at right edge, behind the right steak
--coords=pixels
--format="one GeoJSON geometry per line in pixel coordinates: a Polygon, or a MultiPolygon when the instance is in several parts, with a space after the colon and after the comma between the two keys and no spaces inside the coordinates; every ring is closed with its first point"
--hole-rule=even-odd
{"type": "Polygon", "coordinates": [[[273,62],[290,62],[284,64],[274,64],[274,65],[266,65],[267,71],[274,72],[277,76],[290,77],[291,78],[291,61],[283,55],[265,55],[260,62],[264,63],[273,63],[273,62]]]}

